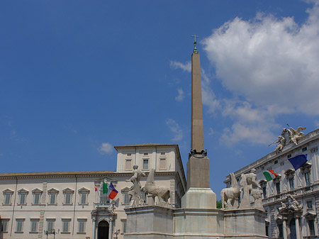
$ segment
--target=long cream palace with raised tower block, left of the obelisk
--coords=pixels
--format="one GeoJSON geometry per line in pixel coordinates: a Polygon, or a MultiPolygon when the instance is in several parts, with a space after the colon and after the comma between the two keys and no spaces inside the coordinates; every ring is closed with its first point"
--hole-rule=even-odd
{"type": "MultiPolygon", "coordinates": [[[[116,146],[117,169],[89,172],[28,172],[0,174],[0,238],[123,238],[125,207],[133,165],[154,168],[155,181],[172,190],[170,203],[179,208],[186,191],[178,145],[116,146]],[[112,182],[118,195],[108,199],[102,182],[112,182]],[[98,189],[95,191],[95,187],[98,189]],[[118,232],[118,235],[114,233],[118,232]],[[58,235],[45,235],[45,231],[58,235]]],[[[142,187],[146,177],[141,179],[142,187]]],[[[142,194],[147,205],[147,197],[142,194]]],[[[155,201],[156,204],[156,201],[155,201]]]]}

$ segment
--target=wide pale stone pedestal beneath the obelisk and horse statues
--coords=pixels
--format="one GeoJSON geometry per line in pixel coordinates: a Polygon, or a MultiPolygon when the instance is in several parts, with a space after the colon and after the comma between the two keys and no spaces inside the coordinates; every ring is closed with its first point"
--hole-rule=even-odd
{"type": "Polygon", "coordinates": [[[266,239],[267,213],[258,209],[125,209],[125,239],[266,239]]]}

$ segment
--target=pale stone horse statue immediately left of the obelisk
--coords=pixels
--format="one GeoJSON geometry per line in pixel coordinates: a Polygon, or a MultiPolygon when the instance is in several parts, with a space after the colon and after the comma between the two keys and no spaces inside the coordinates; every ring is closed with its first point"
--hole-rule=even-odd
{"type": "Polygon", "coordinates": [[[169,206],[168,199],[172,199],[172,192],[169,190],[168,187],[162,187],[155,184],[154,174],[155,169],[150,169],[150,174],[148,174],[144,191],[145,193],[152,195],[153,201],[155,199],[155,196],[157,196],[159,199],[159,206],[169,206]]]}

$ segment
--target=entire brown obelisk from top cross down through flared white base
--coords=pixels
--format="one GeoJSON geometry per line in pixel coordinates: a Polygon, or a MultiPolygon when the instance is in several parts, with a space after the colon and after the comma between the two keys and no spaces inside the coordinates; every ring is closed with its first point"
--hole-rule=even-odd
{"type": "Polygon", "coordinates": [[[187,192],[182,207],[216,209],[216,194],[210,188],[209,158],[203,145],[203,109],[201,99],[201,63],[196,48],[191,55],[191,152],[187,162],[187,192]]]}

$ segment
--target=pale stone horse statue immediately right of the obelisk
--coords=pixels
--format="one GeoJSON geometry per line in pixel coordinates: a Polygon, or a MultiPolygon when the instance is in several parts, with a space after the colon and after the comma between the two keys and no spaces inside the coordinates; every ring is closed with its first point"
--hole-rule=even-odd
{"type": "Polygon", "coordinates": [[[220,192],[220,198],[222,201],[222,209],[237,209],[238,197],[240,196],[240,187],[238,186],[235,174],[230,174],[230,187],[223,189],[220,192]]]}

